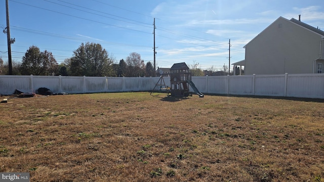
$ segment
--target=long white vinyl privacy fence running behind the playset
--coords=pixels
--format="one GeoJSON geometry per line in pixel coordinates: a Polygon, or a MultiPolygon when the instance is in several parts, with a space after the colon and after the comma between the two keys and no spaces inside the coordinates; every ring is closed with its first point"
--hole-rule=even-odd
{"type": "MultiPolygon", "coordinates": [[[[11,95],[15,89],[35,92],[40,87],[68,94],[149,91],[158,80],[159,77],[0,75],[0,95],[11,95]]],[[[164,77],[164,81],[170,86],[170,77],[164,77]]],[[[192,81],[204,94],[324,99],[324,74],[193,76],[192,81]]],[[[158,89],[160,86],[156,86],[158,89]]]]}

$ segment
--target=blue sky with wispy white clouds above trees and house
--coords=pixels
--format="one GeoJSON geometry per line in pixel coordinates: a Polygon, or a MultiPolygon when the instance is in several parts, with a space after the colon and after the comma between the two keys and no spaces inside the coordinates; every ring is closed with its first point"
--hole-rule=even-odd
{"type": "MultiPolygon", "coordinates": [[[[6,0],[0,4],[4,30],[6,0]]],[[[93,42],[115,63],[135,52],[153,64],[155,18],[156,68],[185,62],[219,71],[244,60],[244,46],[277,18],[298,15],[324,30],[322,0],[9,0],[12,60],[21,62],[35,45],[61,64],[82,43],[93,42]]],[[[0,57],[8,63],[5,33],[0,57]]]]}

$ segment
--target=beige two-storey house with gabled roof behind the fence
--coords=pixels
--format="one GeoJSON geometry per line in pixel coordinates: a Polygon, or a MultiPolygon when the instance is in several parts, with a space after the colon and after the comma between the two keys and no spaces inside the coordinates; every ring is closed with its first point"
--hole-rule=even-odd
{"type": "Polygon", "coordinates": [[[324,73],[324,31],[279,17],[245,45],[245,60],[234,63],[251,74],[324,73]]]}

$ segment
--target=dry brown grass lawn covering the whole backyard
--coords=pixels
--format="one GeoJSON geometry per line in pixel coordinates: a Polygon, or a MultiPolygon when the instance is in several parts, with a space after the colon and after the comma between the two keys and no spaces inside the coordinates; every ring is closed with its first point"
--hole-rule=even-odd
{"type": "Polygon", "coordinates": [[[152,95],[9,99],[0,104],[0,172],[30,172],[31,181],[324,178],[322,102],[152,95]]]}

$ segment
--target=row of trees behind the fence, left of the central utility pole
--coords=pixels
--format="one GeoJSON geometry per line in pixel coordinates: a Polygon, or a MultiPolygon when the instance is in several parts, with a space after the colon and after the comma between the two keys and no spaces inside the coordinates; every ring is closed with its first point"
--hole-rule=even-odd
{"type": "MultiPolygon", "coordinates": [[[[8,74],[8,64],[0,58],[0,74],[8,74]]],[[[82,43],[71,58],[58,64],[51,52],[41,52],[32,45],[22,57],[21,63],[12,62],[14,75],[62,75],[62,76],[155,76],[151,62],[144,64],[141,55],[130,53],[126,60],[116,63],[112,54],[99,43],[82,43]]]]}

